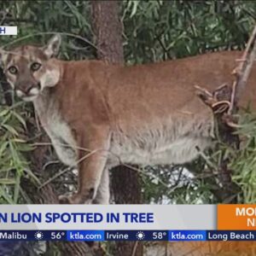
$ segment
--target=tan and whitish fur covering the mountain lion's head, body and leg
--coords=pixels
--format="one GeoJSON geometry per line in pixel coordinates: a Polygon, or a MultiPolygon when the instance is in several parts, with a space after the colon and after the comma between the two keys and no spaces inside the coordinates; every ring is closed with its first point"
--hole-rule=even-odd
{"type": "MultiPolygon", "coordinates": [[[[15,90],[40,81],[41,90],[31,100],[42,125],[65,164],[76,166],[79,161],[79,190],[61,198],[70,203],[108,203],[108,169],[122,162],[182,164],[195,159],[198,150],[212,144],[213,122],[194,86],[212,91],[230,83],[241,56],[218,52],[121,67],[56,60],[49,56],[50,46],[47,54],[32,46],[15,49],[18,55],[9,54],[4,67],[15,90]],[[42,62],[36,73],[29,71],[33,58],[42,62]],[[20,75],[7,71],[13,63],[20,75]]],[[[252,101],[255,107],[255,99],[253,67],[241,102],[245,106],[252,101]]]]}

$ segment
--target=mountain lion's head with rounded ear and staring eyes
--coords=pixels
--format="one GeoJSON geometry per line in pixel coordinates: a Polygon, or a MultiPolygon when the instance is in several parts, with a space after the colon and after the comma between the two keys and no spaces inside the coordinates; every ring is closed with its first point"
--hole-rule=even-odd
{"type": "Polygon", "coordinates": [[[10,51],[0,49],[3,72],[17,96],[33,101],[44,90],[58,83],[60,70],[50,59],[57,55],[61,37],[55,35],[44,47],[20,46],[10,51]]]}

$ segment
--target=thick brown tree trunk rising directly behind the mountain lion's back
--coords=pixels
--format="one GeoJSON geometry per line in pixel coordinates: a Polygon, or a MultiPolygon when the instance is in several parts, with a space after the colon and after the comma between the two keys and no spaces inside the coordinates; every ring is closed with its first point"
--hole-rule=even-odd
{"type": "MultiPolygon", "coordinates": [[[[96,36],[97,55],[108,63],[124,63],[122,24],[119,20],[118,1],[91,1],[92,26],[96,36]]],[[[111,170],[113,199],[116,204],[142,203],[138,172],[125,166],[111,170]]],[[[116,255],[141,256],[143,243],[117,242],[116,255]],[[135,253],[133,253],[135,252],[135,253]]]]}

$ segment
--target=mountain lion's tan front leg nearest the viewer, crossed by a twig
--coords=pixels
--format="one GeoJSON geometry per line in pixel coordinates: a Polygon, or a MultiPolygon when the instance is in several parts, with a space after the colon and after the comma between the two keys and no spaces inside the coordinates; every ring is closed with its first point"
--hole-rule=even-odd
{"type": "Polygon", "coordinates": [[[89,138],[80,137],[79,142],[79,188],[71,196],[61,195],[59,199],[62,204],[91,203],[96,198],[108,160],[108,129],[98,128],[91,131],[89,138]]]}

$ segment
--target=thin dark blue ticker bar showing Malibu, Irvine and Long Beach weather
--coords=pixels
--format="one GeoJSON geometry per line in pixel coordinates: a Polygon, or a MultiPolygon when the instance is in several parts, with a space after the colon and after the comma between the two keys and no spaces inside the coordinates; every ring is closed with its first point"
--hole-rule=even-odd
{"type": "Polygon", "coordinates": [[[253,230],[0,230],[1,241],[256,241],[253,230]]]}

